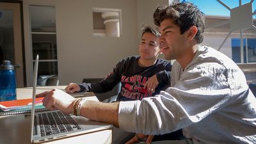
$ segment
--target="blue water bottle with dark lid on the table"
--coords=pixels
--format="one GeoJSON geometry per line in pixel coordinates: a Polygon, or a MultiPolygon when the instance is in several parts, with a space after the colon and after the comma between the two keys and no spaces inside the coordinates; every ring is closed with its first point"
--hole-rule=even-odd
{"type": "Polygon", "coordinates": [[[3,61],[0,65],[0,101],[16,99],[16,80],[13,65],[3,61]]]}

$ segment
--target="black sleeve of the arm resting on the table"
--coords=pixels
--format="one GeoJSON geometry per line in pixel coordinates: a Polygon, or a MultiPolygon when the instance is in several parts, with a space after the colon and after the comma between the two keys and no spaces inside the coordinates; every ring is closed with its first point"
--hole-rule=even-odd
{"type": "Polygon", "coordinates": [[[120,82],[121,72],[123,61],[120,61],[113,68],[113,71],[102,81],[94,83],[81,83],[79,84],[81,91],[80,92],[95,92],[95,93],[105,93],[111,91],[116,84],[120,82]]]}

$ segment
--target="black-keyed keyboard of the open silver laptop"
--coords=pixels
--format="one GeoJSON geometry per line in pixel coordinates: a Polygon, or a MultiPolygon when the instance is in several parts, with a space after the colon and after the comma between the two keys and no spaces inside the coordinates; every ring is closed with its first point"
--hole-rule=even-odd
{"type": "Polygon", "coordinates": [[[40,113],[38,114],[38,118],[41,136],[49,136],[81,129],[70,115],[64,114],[61,111],[40,113]]]}

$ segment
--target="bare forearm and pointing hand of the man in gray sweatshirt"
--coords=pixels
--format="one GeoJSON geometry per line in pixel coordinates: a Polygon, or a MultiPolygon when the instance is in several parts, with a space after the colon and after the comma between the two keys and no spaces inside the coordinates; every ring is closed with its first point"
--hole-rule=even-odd
{"type": "MultiPolygon", "coordinates": [[[[63,113],[73,113],[76,98],[62,90],[47,91],[36,95],[36,97],[45,97],[43,104],[50,110],[58,109],[63,113]]],[[[118,127],[118,106],[119,102],[103,103],[86,100],[81,108],[81,116],[100,122],[108,122],[118,127]]]]}

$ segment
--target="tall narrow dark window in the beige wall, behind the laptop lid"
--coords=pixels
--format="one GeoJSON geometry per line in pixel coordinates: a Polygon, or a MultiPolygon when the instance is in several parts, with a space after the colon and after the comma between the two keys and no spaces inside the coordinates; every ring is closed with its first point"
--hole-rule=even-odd
{"type": "Polygon", "coordinates": [[[29,15],[32,61],[34,64],[36,54],[38,54],[38,84],[45,86],[49,77],[58,80],[55,7],[29,5],[29,15]]]}

